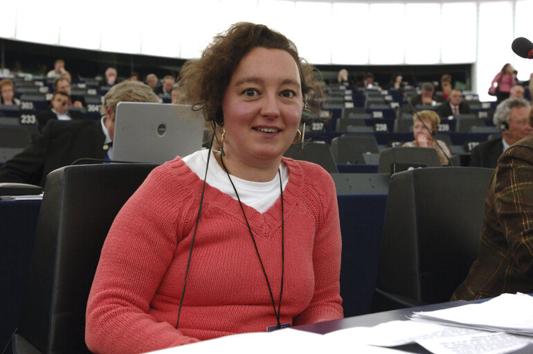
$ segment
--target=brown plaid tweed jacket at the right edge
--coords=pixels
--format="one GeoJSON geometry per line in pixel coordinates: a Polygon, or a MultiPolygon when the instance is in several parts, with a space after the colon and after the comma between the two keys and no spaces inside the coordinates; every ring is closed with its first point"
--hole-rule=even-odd
{"type": "Polygon", "coordinates": [[[533,136],[498,160],[485,200],[478,258],[452,300],[533,292],[533,136]]]}

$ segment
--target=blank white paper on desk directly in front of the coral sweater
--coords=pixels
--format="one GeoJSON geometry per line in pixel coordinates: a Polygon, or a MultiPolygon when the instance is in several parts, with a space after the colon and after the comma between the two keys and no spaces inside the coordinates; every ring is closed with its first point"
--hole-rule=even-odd
{"type": "Polygon", "coordinates": [[[152,354],[172,353],[329,353],[335,348],[340,353],[399,353],[388,348],[363,346],[352,342],[349,346],[338,346],[327,337],[293,328],[273,332],[242,333],[206,340],[185,346],[150,352],[152,354]]]}

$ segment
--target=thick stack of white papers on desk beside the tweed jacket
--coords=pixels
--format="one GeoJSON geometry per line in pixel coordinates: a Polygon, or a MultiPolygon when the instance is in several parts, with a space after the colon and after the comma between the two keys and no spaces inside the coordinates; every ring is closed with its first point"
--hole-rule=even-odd
{"type": "Polygon", "coordinates": [[[413,320],[427,319],[450,326],[467,326],[507,333],[533,335],[533,297],[502,294],[484,303],[414,312],[413,320]]]}

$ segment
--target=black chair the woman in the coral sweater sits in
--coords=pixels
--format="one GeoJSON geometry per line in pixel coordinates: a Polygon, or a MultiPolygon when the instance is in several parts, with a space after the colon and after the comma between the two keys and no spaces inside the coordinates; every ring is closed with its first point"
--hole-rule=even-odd
{"type": "Polygon", "coordinates": [[[12,353],[90,353],[85,308],[107,231],[155,164],[66,166],[46,180],[12,353]]]}

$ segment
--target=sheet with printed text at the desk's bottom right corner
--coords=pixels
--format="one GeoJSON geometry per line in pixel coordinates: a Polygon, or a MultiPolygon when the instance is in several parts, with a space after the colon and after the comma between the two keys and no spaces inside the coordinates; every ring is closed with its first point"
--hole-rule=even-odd
{"type": "Polygon", "coordinates": [[[485,331],[464,337],[417,340],[418,344],[434,354],[504,354],[524,348],[531,342],[530,337],[485,331]]]}

